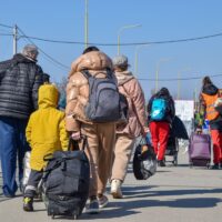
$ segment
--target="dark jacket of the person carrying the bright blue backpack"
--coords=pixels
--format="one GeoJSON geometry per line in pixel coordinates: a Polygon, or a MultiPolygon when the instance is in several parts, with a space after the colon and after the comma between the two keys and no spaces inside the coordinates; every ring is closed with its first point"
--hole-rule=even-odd
{"type": "Polygon", "coordinates": [[[155,93],[154,95],[152,95],[148,103],[148,121],[149,122],[153,121],[150,119],[150,113],[151,113],[152,102],[155,98],[167,100],[167,104],[168,104],[167,113],[165,113],[164,118],[161,120],[161,122],[169,122],[170,124],[172,124],[172,121],[175,117],[174,101],[171,95],[164,94],[161,91],[159,93],[155,93]]]}

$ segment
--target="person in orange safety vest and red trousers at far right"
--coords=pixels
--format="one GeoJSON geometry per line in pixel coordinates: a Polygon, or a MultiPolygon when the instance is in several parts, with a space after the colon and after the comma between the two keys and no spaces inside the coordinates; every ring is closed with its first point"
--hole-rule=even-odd
{"type": "Polygon", "coordinates": [[[204,111],[205,119],[209,120],[211,139],[213,142],[212,169],[222,168],[222,115],[214,109],[214,103],[220,97],[220,90],[213,84],[209,77],[202,80],[200,93],[200,110],[204,111]]]}

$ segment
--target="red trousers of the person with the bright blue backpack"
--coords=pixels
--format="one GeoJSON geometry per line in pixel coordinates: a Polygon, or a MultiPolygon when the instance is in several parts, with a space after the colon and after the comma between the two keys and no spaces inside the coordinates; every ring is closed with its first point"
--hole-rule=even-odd
{"type": "Polygon", "coordinates": [[[151,122],[149,128],[158,160],[163,160],[168,145],[170,124],[168,122],[151,122]]]}

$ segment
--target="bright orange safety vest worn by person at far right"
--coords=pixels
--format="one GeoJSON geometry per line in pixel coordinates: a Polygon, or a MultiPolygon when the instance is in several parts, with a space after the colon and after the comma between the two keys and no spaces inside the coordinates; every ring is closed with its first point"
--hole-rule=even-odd
{"type": "Polygon", "coordinates": [[[206,119],[208,120],[214,120],[219,117],[219,112],[215,111],[214,109],[214,102],[215,100],[219,98],[219,94],[214,94],[214,95],[209,95],[205,93],[201,93],[203,97],[203,100],[205,102],[205,114],[206,114],[206,119]]]}

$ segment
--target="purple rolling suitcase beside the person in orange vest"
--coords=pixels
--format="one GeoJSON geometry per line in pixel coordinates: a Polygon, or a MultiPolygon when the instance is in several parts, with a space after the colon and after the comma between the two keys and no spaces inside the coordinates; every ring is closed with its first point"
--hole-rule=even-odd
{"type": "Polygon", "coordinates": [[[192,133],[189,143],[190,167],[206,167],[211,163],[211,137],[210,134],[192,133]]]}

